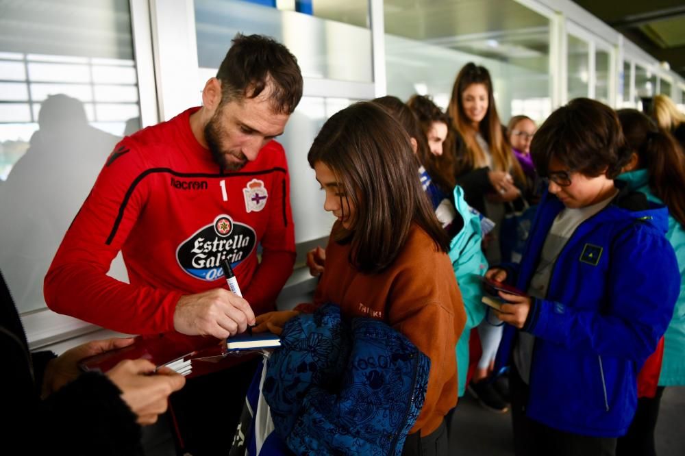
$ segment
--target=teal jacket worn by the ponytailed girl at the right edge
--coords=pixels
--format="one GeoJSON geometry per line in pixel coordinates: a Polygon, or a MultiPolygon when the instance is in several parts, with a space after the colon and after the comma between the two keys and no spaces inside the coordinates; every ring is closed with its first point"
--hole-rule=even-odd
{"type": "MultiPolygon", "coordinates": [[[[627,182],[628,188],[647,195],[649,201],[663,204],[649,190],[649,175],[646,169],[623,173],[618,179],[627,182]]],[[[685,230],[669,216],[669,231],[666,238],[671,242],[680,269],[680,295],[675,303],[673,320],[664,335],[664,362],[659,376],[660,386],[685,385],[685,230]]],[[[658,280],[658,278],[655,278],[658,280]]]]}

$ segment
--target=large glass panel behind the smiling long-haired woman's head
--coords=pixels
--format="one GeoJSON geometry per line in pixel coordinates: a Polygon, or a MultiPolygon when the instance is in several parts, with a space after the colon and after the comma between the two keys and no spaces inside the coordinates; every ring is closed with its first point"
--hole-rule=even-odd
{"type": "Polygon", "coordinates": [[[501,121],[551,112],[549,20],[513,0],[384,1],[388,94],[445,109],[464,64],[488,68],[501,121]]]}

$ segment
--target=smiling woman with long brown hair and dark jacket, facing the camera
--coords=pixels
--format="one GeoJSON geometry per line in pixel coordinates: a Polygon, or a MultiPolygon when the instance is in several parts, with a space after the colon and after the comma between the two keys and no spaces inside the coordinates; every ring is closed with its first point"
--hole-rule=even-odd
{"type": "MultiPolygon", "coordinates": [[[[466,202],[495,222],[486,236],[485,256],[489,264],[501,262],[499,229],[507,211],[506,203],[519,200],[525,177],[505,140],[497,114],[493,81],[483,66],[468,63],[454,81],[447,107],[452,120],[447,152],[455,160],[456,183],[464,189],[466,202]]],[[[489,316],[489,315],[488,315],[489,316]]],[[[473,373],[469,390],[486,408],[508,410],[505,381],[499,388],[486,381],[495,362],[502,327],[493,318],[478,326],[483,353],[473,373]]]]}

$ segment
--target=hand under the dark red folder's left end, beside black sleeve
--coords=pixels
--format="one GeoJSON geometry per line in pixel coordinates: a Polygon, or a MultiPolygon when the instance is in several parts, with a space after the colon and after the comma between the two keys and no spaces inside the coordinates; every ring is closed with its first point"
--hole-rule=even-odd
{"type": "Polygon", "coordinates": [[[45,375],[43,377],[41,396],[46,398],[53,392],[62,388],[70,381],[78,377],[82,370],[79,368],[79,362],[82,359],[98,355],[105,351],[121,349],[129,346],[134,342],[133,338],[112,338],[107,340],[93,340],[75,346],[73,349],[67,350],[62,355],[51,359],[45,368],[45,375]]]}

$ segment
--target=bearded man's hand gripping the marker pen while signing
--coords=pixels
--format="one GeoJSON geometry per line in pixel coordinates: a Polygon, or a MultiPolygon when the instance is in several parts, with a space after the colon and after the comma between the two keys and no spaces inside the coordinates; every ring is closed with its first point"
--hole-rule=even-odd
{"type": "Polygon", "coordinates": [[[245,332],[254,322],[249,303],[224,288],[182,296],[173,314],[173,326],[179,333],[219,339],[245,332]]]}

